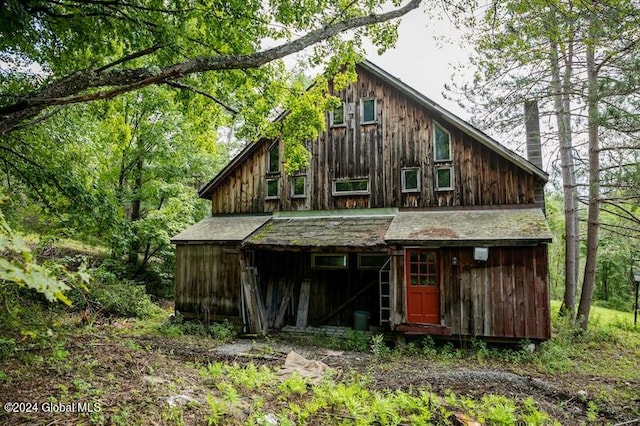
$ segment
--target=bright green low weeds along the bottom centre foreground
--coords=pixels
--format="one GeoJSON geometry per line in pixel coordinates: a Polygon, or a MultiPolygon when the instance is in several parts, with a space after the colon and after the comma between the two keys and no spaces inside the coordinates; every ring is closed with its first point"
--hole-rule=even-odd
{"type": "Polygon", "coordinates": [[[409,392],[372,390],[369,381],[350,376],[336,381],[329,371],[319,384],[293,373],[279,377],[269,367],[214,363],[200,368],[207,395],[209,424],[226,424],[238,410],[250,412],[244,424],[450,424],[474,418],[481,423],[512,425],[557,424],[532,398],[516,401],[500,395],[479,399],[447,392],[441,397],[428,388],[409,392]]]}

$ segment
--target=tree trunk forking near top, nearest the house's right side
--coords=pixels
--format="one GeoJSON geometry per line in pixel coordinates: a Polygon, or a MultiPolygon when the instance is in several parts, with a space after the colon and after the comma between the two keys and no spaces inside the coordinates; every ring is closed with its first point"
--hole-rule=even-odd
{"type": "MultiPolygon", "coordinates": [[[[558,44],[554,40],[551,40],[549,58],[551,64],[551,90],[553,92],[554,110],[558,126],[558,141],[560,142],[560,164],[562,168],[565,222],[564,297],[560,308],[560,314],[573,320],[575,313],[576,287],[578,282],[577,262],[579,261],[580,252],[580,234],[577,227],[579,223],[578,197],[571,137],[570,96],[565,87],[571,81],[571,73],[573,70],[571,60],[570,58],[567,58],[565,60],[563,82],[561,83],[558,50],[558,44]]],[[[569,54],[572,53],[569,52],[569,54]]]]}

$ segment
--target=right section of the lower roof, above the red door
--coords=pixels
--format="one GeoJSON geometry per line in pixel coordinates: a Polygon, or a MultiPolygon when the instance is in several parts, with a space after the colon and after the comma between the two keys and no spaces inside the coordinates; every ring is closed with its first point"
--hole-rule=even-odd
{"type": "Polygon", "coordinates": [[[400,211],[384,236],[388,244],[512,246],[551,242],[539,208],[400,211]]]}

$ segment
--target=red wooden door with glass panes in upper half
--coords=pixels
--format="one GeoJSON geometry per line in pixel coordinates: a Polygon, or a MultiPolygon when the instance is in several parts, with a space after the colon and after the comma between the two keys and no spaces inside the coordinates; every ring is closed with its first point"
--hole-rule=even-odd
{"type": "Polygon", "coordinates": [[[434,250],[407,249],[407,322],[440,324],[438,256],[434,250]]]}

